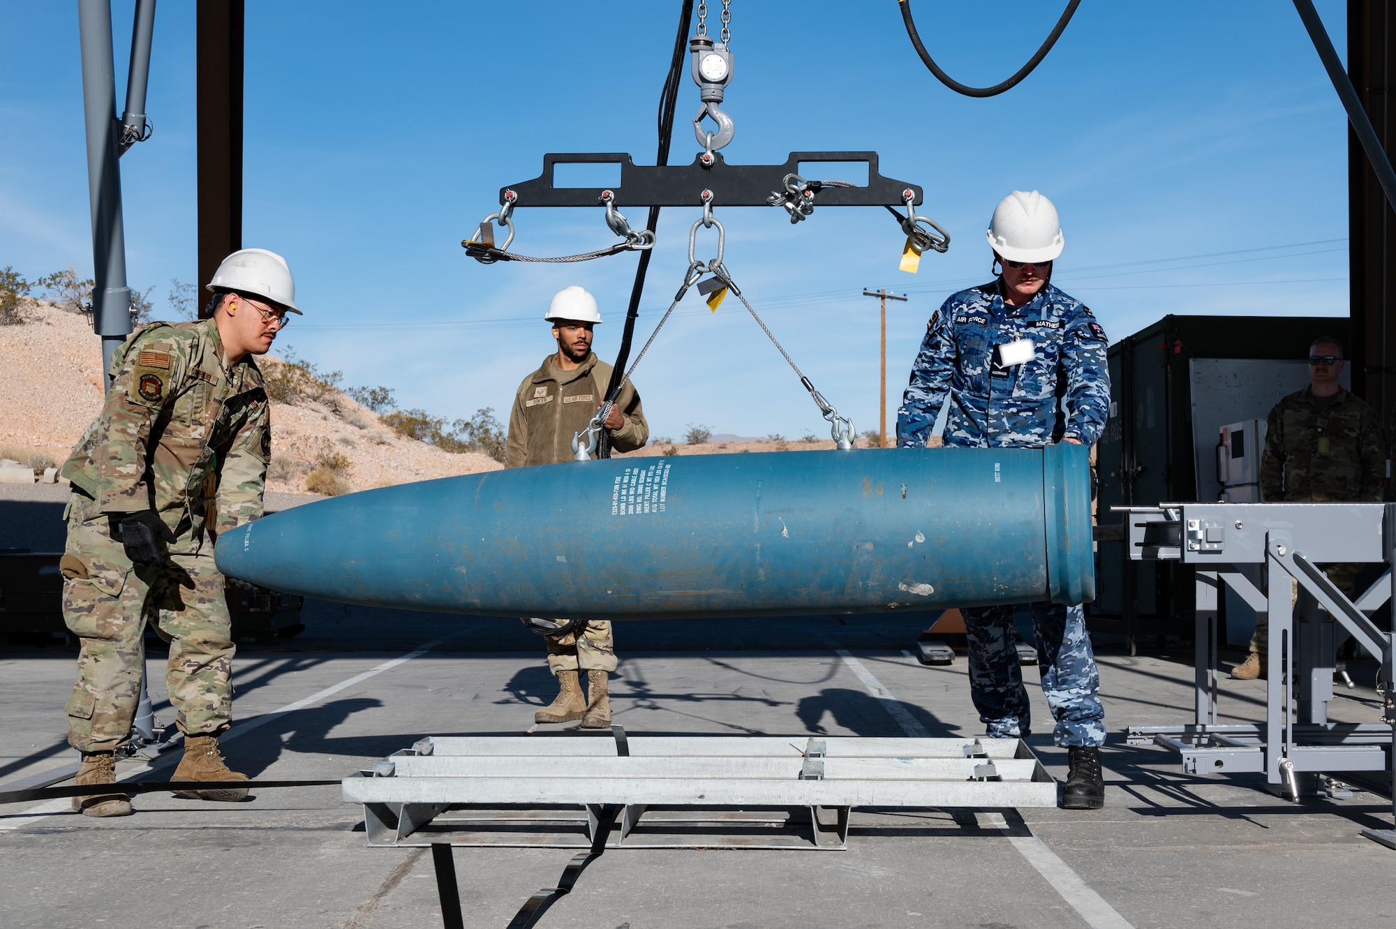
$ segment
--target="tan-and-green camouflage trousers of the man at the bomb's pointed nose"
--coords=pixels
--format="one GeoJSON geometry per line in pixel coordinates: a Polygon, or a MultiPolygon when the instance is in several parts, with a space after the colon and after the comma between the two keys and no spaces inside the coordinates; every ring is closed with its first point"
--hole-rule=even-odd
{"type": "Polygon", "coordinates": [[[236,647],[212,554],[133,566],[112,538],[109,518],[94,511],[95,504],[74,497],[61,565],[63,621],[82,646],[66,707],[68,743],[96,752],[130,738],[147,624],[170,643],[165,682],[174,724],[184,734],[221,731],[232,721],[236,647]]]}

